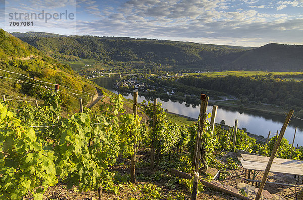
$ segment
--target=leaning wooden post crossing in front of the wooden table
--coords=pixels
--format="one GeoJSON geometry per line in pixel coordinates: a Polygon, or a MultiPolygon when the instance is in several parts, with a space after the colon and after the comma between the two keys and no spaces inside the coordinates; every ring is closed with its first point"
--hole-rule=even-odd
{"type": "Polygon", "coordinates": [[[258,192],[257,192],[257,195],[256,195],[255,200],[259,200],[260,197],[261,197],[261,192],[262,192],[262,190],[263,190],[263,188],[264,188],[264,185],[265,185],[265,182],[266,182],[266,179],[267,179],[269,170],[270,170],[270,168],[271,168],[271,165],[272,165],[272,163],[273,163],[273,160],[274,160],[275,155],[276,155],[276,153],[277,153],[277,150],[278,150],[278,148],[279,148],[279,146],[280,146],[281,140],[282,140],[282,138],[283,138],[283,136],[284,136],[285,130],[286,130],[287,126],[288,126],[288,123],[289,123],[289,121],[290,121],[290,118],[291,118],[292,114],[293,114],[293,110],[290,110],[289,113],[287,114],[287,117],[286,117],[286,119],[285,119],[285,121],[284,121],[284,124],[283,124],[283,126],[282,126],[282,128],[281,128],[281,130],[280,130],[279,137],[278,137],[278,139],[277,139],[276,142],[275,142],[273,151],[272,151],[272,153],[271,153],[271,155],[270,155],[269,161],[268,161],[267,166],[266,166],[266,168],[265,168],[264,175],[263,175],[261,184],[260,184],[260,186],[259,186],[259,189],[258,189],[258,192]]]}

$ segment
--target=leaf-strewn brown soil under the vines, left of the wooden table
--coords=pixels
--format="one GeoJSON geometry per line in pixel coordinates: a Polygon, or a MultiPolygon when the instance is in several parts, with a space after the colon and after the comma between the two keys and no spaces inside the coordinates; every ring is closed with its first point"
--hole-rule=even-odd
{"type": "MultiPolygon", "coordinates": [[[[169,168],[158,167],[156,170],[149,170],[149,157],[150,153],[148,149],[139,149],[137,154],[137,164],[136,164],[136,184],[135,187],[141,186],[143,188],[144,184],[152,183],[161,188],[161,194],[163,197],[161,199],[168,199],[171,195],[172,199],[191,199],[191,191],[189,191],[184,185],[176,182],[175,188],[167,186],[170,179],[173,179],[170,175],[169,168]],[[158,175],[157,175],[158,174],[158,175]],[[183,196],[183,197],[181,197],[183,196]]],[[[166,158],[167,159],[167,158],[166,158]]],[[[210,168],[211,169],[211,168],[210,168]]],[[[119,156],[117,158],[116,164],[109,170],[111,172],[118,172],[120,175],[127,175],[130,171],[130,159],[122,158],[119,156]]],[[[212,169],[212,174],[216,173],[216,169],[212,169]]],[[[123,188],[119,189],[119,194],[113,194],[108,192],[103,192],[102,199],[144,199],[144,192],[135,191],[133,187],[129,187],[127,183],[122,183],[123,188]]],[[[117,184],[116,184],[117,185],[117,184]]],[[[73,186],[73,189],[67,190],[66,184],[58,183],[53,187],[49,187],[45,192],[43,199],[56,199],[56,200],[66,200],[66,199],[85,199],[93,200],[98,199],[97,191],[88,192],[77,192],[77,187],[73,186]]],[[[229,194],[223,192],[218,192],[216,190],[208,189],[204,187],[205,191],[201,192],[197,199],[238,199],[229,194]]],[[[32,195],[29,194],[23,199],[33,199],[32,195]]],[[[153,198],[151,198],[153,199],[153,198]]]]}

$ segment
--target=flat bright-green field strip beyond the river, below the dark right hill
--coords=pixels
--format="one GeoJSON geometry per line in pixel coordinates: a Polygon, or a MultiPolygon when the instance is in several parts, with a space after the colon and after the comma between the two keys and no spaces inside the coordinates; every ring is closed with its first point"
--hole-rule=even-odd
{"type": "Polygon", "coordinates": [[[264,71],[224,71],[224,72],[206,72],[206,73],[187,73],[188,75],[206,75],[211,77],[225,77],[227,75],[237,76],[254,76],[254,75],[267,75],[273,73],[274,75],[297,75],[302,72],[264,72],[264,71]]]}

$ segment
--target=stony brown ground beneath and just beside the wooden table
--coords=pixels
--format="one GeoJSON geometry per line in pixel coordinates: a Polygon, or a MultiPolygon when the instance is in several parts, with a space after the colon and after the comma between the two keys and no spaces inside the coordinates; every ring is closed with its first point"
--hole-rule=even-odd
{"type": "MultiPolygon", "coordinates": [[[[218,156],[217,160],[220,162],[227,164],[226,159],[227,158],[234,158],[237,159],[237,157],[240,157],[241,155],[238,153],[233,152],[223,152],[222,156],[218,156]]],[[[230,173],[225,180],[221,180],[220,182],[222,184],[227,184],[233,187],[237,186],[237,183],[247,183],[245,182],[245,171],[243,167],[241,166],[241,163],[238,162],[238,165],[240,166],[240,169],[235,170],[228,170],[230,173]]],[[[259,172],[256,176],[256,180],[262,180],[263,172],[259,172]]],[[[252,179],[252,178],[250,178],[252,179]]],[[[269,182],[276,182],[276,183],[284,183],[284,184],[293,184],[293,185],[300,185],[302,186],[302,177],[299,179],[300,181],[297,182],[294,179],[294,175],[289,174],[282,174],[282,173],[269,173],[267,181],[269,182]]],[[[250,183],[251,184],[251,183],[250,183]]],[[[256,185],[254,184],[256,187],[256,185]]],[[[265,184],[264,190],[268,190],[271,194],[279,194],[283,196],[285,199],[296,199],[296,194],[302,190],[302,187],[292,187],[292,186],[282,186],[277,184],[265,184]]]]}

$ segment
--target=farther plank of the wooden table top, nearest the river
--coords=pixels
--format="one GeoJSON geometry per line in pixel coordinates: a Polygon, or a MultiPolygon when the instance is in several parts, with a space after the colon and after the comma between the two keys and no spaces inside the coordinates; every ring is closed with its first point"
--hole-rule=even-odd
{"type": "MultiPolygon", "coordinates": [[[[266,156],[249,155],[249,154],[241,154],[241,156],[245,161],[258,161],[258,162],[268,163],[269,160],[269,157],[266,156]]],[[[303,161],[301,160],[274,158],[273,163],[283,164],[283,165],[299,165],[303,167],[303,161]]]]}

